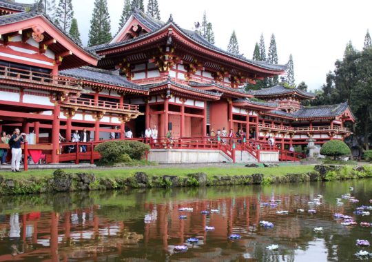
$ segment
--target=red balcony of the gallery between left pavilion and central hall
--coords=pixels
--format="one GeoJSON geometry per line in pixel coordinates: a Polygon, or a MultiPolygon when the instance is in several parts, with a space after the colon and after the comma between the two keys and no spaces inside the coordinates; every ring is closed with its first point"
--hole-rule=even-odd
{"type": "Polygon", "coordinates": [[[74,98],[64,101],[62,104],[63,107],[68,108],[80,108],[86,110],[94,110],[101,112],[114,112],[114,113],[131,113],[139,114],[138,105],[130,105],[120,103],[110,102],[110,101],[94,101],[94,99],[85,99],[85,98],[74,98]]]}

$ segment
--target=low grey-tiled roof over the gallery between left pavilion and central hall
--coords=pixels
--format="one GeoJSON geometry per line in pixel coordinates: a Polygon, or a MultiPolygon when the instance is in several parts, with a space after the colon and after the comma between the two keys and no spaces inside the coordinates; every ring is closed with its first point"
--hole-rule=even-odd
{"type": "Polygon", "coordinates": [[[77,79],[93,81],[96,83],[104,83],[107,85],[116,85],[124,88],[132,88],[136,90],[146,90],[141,85],[136,85],[130,81],[127,81],[124,77],[115,74],[109,70],[103,70],[98,68],[91,68],[89,66],[83,66],[81,68],[72,68],[68,70],[59,71],[59,74],[65,77],[74,77],[77,79]]]}

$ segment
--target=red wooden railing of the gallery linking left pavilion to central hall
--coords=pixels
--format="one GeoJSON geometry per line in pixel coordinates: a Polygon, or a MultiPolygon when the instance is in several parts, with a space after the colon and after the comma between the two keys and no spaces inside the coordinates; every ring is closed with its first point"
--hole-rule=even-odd
{"type": "Polygon", "coordinates": [[[109,110],[127,110],[127,111],[138,111],[138,105],[130,105],[130,104],[123,104],[115,103],[111,101],[95,101],[94,99],[86,99],[82,97],[68,99],[65,101],[66,104],[75,104],[75,105],[82,105],[82,106],[90,106],[94,108],[104,108],[109,110]]]}

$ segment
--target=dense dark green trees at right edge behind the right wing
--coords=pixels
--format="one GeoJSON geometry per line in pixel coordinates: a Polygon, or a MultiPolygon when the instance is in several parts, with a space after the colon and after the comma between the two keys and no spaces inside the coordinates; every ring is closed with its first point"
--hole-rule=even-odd
{"type": "Polygon", "coordinates": [[[370,130],[372,128],[372,48],[366,34],[365,47],[355,50],[349,42],[342,60],[335,62],[335,70],[329,72],[326,83],[316,92],[311,105],[337,104],[348,101],[356,117],[353,136],[349,143],[358,143],[360,149],[369,150],[370,130]]]}

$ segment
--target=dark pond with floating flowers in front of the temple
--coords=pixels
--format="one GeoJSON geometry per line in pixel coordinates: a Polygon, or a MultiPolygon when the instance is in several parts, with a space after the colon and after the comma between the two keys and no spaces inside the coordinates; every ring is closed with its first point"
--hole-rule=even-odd
{"type": "Polygon", "coordinates": [[[360,222],[372,221],[354,211],[372,205],[371,190],[372,179],[3,196],[0,261],[358,261],[356,252],[372,252],[355,245],[372,241],[372,228],[360,222]],[[359,202],[337,203],[347,193],[359,202]],[[342,225],[335,213],[358,225],[342,225]],[[187,251],[177,252],[176,245],[187,251]]]}

